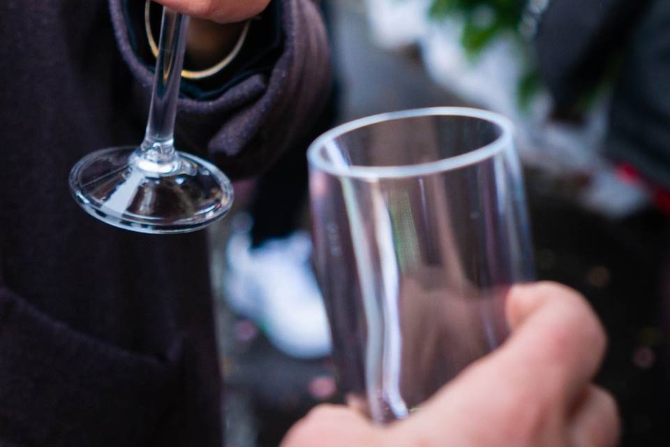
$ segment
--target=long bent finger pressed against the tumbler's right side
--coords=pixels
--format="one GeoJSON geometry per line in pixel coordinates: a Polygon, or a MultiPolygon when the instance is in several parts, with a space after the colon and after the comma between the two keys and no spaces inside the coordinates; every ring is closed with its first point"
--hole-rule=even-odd
{"type": "Polygon", "coordinates": [[[421,432],[436,445],[459,436],[463,445],[493,446],[501,433],[519,444],[560,433],[602,360],[602,326],[578,293],[549,283],[514,287],[507,314],[507,342],[396,425],[399,434],[421,432]],[[481,430],[482,421],[490,430],[481,430]]]}

